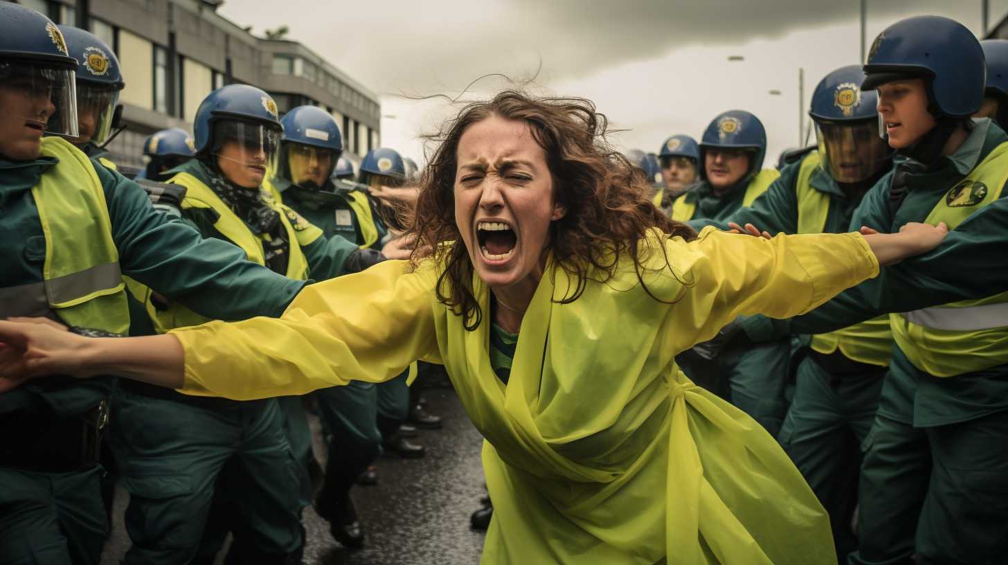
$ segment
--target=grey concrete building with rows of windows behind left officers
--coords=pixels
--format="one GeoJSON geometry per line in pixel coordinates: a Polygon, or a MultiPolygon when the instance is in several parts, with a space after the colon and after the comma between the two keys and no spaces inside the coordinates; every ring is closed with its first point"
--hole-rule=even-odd
{"type": "Polygon", "coordinates": [[[304,104],[330,112],[351,160],[379,146],[377,96],[297,41],[258,37],[221,16],[223,0],[14,1],[88,29],[115,50],[127,129],[108,148],[122,164],[142,166],[143,140],[154,131],[192,132],[200,102],[233,83],[268,92],[281,116],[304,104]]]}

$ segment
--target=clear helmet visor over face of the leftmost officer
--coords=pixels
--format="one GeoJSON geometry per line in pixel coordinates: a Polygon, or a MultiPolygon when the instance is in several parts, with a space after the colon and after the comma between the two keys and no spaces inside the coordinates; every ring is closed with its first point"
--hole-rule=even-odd
{"type": "Polygon", "coordinates": [[[77,89],[73,69],[0,63],[0,113],[44,133],[77,137],[77,89]]]}

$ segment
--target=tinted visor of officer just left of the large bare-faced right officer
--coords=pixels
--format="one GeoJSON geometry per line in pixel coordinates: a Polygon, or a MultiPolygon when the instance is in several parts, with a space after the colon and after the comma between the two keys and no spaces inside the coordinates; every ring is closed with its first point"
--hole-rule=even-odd
{"type": "Polygon", "coordinates": [[[889,162],[889,145],[879,137],[878,122],[816,122],[815,137],[826,170],[838,183],[859,183],[889,162]]]}

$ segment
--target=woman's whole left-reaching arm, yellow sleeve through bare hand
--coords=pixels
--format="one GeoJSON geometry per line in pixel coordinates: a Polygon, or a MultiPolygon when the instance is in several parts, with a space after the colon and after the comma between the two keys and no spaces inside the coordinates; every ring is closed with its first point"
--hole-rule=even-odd
{"type": "Polygon", "coordinates": [[[417,358],[436,360],[431,274],[385,261],[308,286],[280,319],[211,322],[163,336],[85,338],[2,322],[0,391],[59,373],[115,374],[234,400],[385,380],[417,358]]]}

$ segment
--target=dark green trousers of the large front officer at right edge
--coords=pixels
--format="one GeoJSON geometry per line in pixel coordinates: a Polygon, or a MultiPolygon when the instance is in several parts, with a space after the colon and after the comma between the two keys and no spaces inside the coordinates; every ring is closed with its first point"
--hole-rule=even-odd
{"type": "MultiPolygon", "coordinates": [[[[852,565],[1005,563],[1008,411],[913,425],[920,373],[898,350],[866,442],[852,565]]],[[[957,378],[957,377],[951,377],[957,378]]]]}

